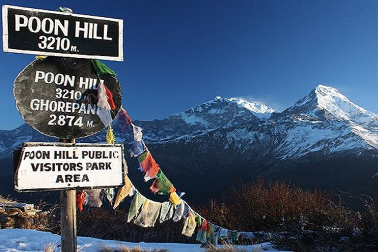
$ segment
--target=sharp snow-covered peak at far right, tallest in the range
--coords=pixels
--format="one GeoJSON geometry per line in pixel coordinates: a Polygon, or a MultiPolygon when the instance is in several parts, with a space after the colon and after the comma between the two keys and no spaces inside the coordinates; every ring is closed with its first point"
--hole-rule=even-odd
{"type": "Polygon", "coordinates": [[[378,149],[377,115],[331,87],[317,86],[274,120],[282,132],[281,158],[378,149]]]}

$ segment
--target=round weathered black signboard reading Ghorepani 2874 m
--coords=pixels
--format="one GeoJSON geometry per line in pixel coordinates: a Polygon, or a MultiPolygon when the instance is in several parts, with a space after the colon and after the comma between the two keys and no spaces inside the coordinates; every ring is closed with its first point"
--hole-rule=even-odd
{"type": "Polygon", "coordinates": [[[98,75],[91,60],[84,59],[35,60],[17,76],[13,94],[25,122],[57,138],[92,135],[108,126],[121,107],[117,78],[98,75]],[[114,102],[110,109],[97,104],[100,83],[107,89],[109,103],[114,102]]]}

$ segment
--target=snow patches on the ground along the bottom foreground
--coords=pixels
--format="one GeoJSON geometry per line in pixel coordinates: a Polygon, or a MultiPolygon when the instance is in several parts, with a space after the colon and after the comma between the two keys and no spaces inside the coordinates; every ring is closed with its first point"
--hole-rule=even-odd
{"type": "MultiPolygon", "coordinates": [[[[43,252],[47,244],[55,244],[60,252],[61,237],[50,232],[28,229],[0,229],[0,252],[43,252]]],[[[127,248],[140,247],[144,250],[167,249],[169,252],[205,252],[199,244],[179,243],[131,243],[110,240],[101,240],[90,237],[77,237],[77,247],[80,252],[99,252],[104,247],[116,249],[120,246],[127,248]]],[[[251,246],[240,246],[246,251],[273,252],[270,243],[251,246]]]]}

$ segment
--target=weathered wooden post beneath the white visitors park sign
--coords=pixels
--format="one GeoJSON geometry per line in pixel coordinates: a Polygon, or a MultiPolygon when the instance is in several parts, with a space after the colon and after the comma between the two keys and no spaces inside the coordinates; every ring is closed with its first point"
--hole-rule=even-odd
{"type": "MultiPolygon", "coordinates": [[[[60,139],[75,143],[75,139],[60,139]]],[[[76,190],[61,190],[61,252],[76,252],[76,190]]]]}

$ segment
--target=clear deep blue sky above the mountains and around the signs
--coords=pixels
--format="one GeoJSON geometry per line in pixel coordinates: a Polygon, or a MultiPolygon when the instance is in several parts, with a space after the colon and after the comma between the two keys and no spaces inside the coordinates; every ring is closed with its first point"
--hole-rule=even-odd
{"type": "MultiPolygon", "coordinates": [[[[117,72],[135,120],[163,119],[215,96],[283,110],[318,84],[378,113],[378,1],[0,0],[124,20],[117,72]]],[[[32,55],[0,52],[0,129],[23,124],[13,81],[32,55]]]]}

